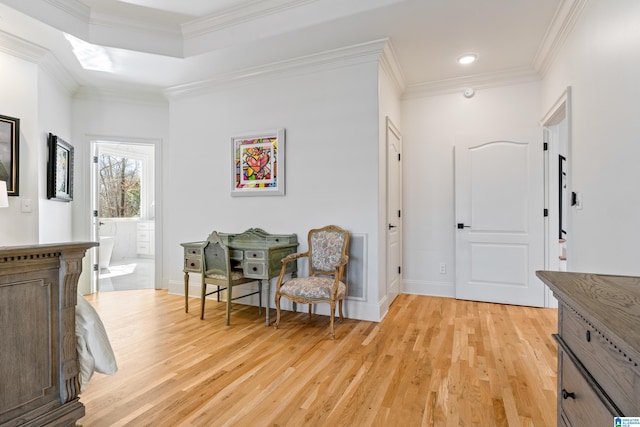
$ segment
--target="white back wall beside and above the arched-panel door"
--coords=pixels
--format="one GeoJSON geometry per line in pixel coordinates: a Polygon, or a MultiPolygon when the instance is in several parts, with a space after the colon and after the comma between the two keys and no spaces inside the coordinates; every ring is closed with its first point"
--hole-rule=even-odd
{"type": "Polygon", "coordinates": [[[405,292],[454,295],[456,136],[539,126],[540,88],[527,83],[477,90],[470,99],[454,93],[403,100],[405,292]]]}

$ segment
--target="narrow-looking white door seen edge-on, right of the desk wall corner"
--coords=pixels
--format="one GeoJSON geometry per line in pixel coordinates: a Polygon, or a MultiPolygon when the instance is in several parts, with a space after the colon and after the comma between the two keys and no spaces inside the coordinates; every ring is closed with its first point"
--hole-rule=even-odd
{"type": "Polygon", "coordinates": [[[387,118],[387,298],[391,304],[402,280],[402,138],[387,118]]]}

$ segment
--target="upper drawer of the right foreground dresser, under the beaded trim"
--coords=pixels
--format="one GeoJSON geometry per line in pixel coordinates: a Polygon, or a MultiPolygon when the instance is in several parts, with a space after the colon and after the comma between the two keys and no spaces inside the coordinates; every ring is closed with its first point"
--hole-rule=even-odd
{"type": "Polygon", "coordinates": [[[640,414],[638,361],[630,361],[624,348],[612,343],[571,308],[562,306],[561,310],[562,340],[622,414],[640,414]]]}

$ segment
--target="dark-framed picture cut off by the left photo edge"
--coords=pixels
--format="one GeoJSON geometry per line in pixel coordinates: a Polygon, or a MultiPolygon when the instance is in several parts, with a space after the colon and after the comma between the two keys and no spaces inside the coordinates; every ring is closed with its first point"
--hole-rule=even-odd
{"type": "Polygon", "coordinates": [[[20,177],[20,119],[0,116],[0,181],[7,182],[9,196],[18,196],[20,177]]]}

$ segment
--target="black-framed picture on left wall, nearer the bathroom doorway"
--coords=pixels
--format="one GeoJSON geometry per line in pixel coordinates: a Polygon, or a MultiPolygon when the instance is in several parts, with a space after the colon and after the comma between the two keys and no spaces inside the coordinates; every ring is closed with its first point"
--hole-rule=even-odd
{"type": "Polygon", "coordinates": [[[47,198],[70,202],[73,200],[73,146],[49,134],[47,162],[47,198]]]}

